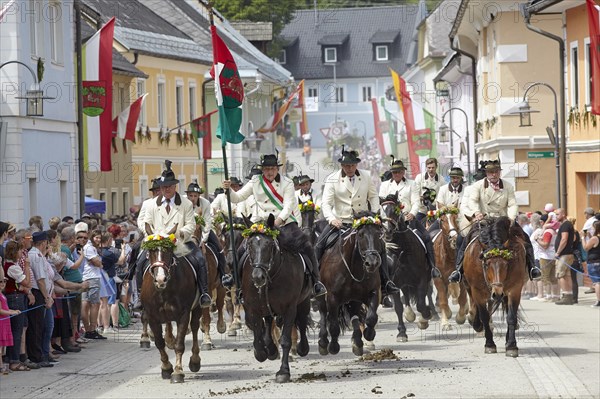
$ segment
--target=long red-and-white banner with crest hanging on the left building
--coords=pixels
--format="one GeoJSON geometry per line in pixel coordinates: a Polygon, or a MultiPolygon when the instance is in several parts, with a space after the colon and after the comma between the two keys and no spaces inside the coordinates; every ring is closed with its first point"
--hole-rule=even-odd
{"type": "Polygon", "coordinates": [[[112,46],[115,18],[83,45],[84,168],[107,172],[112,142],[112,46]],[[92,167],[92,169],[90,169],[92,167]]]}

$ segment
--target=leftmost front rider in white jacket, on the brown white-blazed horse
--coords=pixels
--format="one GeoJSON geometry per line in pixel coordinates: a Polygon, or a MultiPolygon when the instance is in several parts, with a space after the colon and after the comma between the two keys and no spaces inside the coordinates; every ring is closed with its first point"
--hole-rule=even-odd
{"type": "MultiPolygon", "coordinates": [[[[166,169],[158,181],[161,195],[156,198],[154,205],[146,213],[145,225],[150,225],[152,231],[167,232],[176,227],[175,235],[191,250],[186,255],[189,263],[196,271],[196,281],[202,295],[200,295],[200,306],[209,307],[211,298],[208,294],[208,273],[206,260],[200,248],[192,241],[196,231],[196,220],[194,218],[194,205],[187,198],[177,193],[179,180],[175,179],[175,173],[171,170],[171,161],[166,160],[166,169]]],[[[140,268],[141,269],[141,268],[140,268]]],[[[140,270],[138,270],[140,273],[140,270]]]]}

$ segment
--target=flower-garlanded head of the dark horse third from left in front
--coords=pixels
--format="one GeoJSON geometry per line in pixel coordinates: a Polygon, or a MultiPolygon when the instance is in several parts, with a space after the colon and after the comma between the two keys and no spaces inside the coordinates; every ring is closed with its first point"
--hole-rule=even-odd
{"type": "Polygon", "coordinates": [[[385,249],[383,226],[379,215],[369,211],[354,215],[352,228],[356,233],[356,248],[367,273],[381,266],[381,253],[385,249]]]}

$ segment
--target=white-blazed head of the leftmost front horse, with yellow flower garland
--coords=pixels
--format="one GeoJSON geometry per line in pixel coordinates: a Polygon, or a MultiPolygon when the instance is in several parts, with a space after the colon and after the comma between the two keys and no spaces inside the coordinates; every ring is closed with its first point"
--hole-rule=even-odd
{"type": "Polygon", "coordinates": [[[147,258],[150,261],[150,274],[154,280],[154,286],[158,290],[167,287],[171,278],[170,268],[175,263],[173,250],[175,249],[175,232],[177,224],[166,234],[154,234],[150,226],[146,223],[146,232],[148,237],[142,243],[142,248],[147,249],[147,258]]]}

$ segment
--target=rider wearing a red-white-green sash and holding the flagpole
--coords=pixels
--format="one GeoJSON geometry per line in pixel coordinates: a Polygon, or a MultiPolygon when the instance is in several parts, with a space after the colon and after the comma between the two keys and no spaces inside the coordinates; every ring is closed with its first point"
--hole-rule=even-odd
{"type": "MultiPolygon", "coordinates": [[[[231,202],[238,203],[254,195],[255,212],[252,214],[252,222],[266,220],[269,214],[275,216],[275,227],[279,227],[281,235],[280,243],[284,245],[287,239],[295,240],[302,236],[302,231],[298,227],[300,220],[298,214],[298,205],[294,196],[293,182],[279,174],[279,163],[276,154],[263,155],[261,157],[262,175],[255,175],[252,180],[238,192],[230,192],[231,202]]],[[[223,188],[228,189],[231,186],[230,180],[223,181],[223,188]]],[[[327,293],[327,289],[319,280],[319,264],[315,259],[313,248],[308,240],[304,241],[301,252],[309,259],[309,272],[314,280],[314,296],[321,296],[327,293]]]]}

